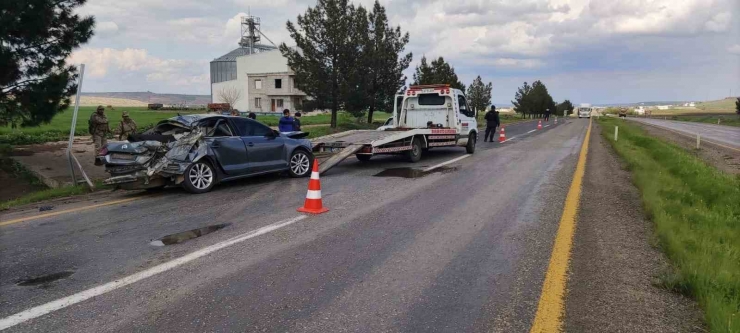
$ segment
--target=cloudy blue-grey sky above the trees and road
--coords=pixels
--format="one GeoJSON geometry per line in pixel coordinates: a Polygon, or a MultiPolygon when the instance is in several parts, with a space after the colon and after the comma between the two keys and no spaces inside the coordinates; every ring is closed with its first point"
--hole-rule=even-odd
{"type": "MultiPolygon", "coordinates": [[[[275,43],[316,0],[88,0],[95,37],[72,61],[84,91],[209,94],[208,62],[237,47],[239,18],[275,43]]],[[[366,7],[372,0],[356,0],[366,7]]],[[[739,0],[381,0],[411,34],[413,70],[443,56],[509,103],[524,81],[557,100],[620,103],[740,95],[739,0]]]]}

